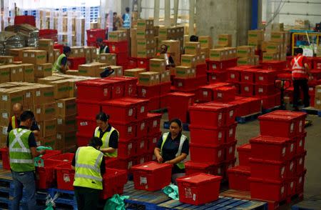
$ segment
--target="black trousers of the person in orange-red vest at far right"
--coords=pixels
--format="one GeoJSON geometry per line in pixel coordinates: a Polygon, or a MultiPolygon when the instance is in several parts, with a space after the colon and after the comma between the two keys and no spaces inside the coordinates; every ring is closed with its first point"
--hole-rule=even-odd
{"type": "Polygon", "coordinates": [[[299,106],[300,89],[303,91],[303,103],[305,107],[310,106],[309,86],[307,86],[307,79],[294,79],[293,80],[293,107],[299,106]]]}

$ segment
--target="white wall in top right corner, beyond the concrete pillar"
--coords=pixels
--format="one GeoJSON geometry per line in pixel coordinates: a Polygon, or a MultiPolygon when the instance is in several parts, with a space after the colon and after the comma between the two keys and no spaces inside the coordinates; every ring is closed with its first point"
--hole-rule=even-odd
{"type": "MultiPolygon", "coordinates": [[[[279,0],[280,1],[280,0],[279,0]]],[[[263,0],[263,21],[266,21],[266,2],[263,0]]],[[[294,25],[295,19],[307,19],[310,26],[314,27],[316,23],[321,22],[321,1],[320,0],[290,0],[285,1],[280,11],[280,22],[285,25],[294,25]],[[307,3],[309,2],[309,3],[307,3]],[[313,4],[316,3],[316,4],[313,4]],[[290,14],[287,14],[290,13],[290,14]],[[299,15],[304,14],[304,15],[299,15]],[[306,15],[309,14],[309,15],[306,15]]]]}

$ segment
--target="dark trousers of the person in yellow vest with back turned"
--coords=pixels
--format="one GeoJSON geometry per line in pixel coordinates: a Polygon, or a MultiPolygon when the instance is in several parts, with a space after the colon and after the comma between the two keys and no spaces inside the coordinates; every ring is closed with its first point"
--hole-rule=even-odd
{"type": "Polygon", "coordinates": [[[101,190],[74,186],[78,210],[96,210],[101,190]]]}

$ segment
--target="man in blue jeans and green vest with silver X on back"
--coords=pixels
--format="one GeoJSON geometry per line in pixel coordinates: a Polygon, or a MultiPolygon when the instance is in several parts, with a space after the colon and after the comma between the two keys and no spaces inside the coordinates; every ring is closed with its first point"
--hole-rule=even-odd
{"type": "Polygon", "coordinates": [[[45,150],[37,151],[34,133],[30,131],[34,122],[34,113],[24,111],[20,115],[20,125],[9,133],[9,158],[12,179],[14,183],[14,199],[11,209],[19,210],[24,191],[24,201],[28,209],[36,209],[36,182],[34,157],[45,154],[45,150]]]}

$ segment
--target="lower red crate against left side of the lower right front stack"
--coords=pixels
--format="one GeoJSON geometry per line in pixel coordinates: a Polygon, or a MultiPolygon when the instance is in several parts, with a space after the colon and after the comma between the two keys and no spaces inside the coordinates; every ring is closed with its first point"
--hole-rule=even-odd
{"type": "Polygon", "coordinates": [[[235,166],[228,169],[228,186],[230,189],[241,191],[250,191],[250,167],[248,166],[235,166]]]}

